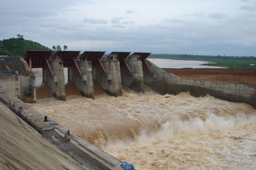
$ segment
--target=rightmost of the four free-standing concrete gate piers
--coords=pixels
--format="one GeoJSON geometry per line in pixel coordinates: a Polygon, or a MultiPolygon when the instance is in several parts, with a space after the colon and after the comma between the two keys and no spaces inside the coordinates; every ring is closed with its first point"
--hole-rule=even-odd
{"type": "Polygon", "coordinates": [[[125,72],[125,70],[121,68],[122,83],[136,92],[144,93],[142,62],[137,59],[129,59],[126,63],[129,66],[132,75],[129,75],[129,73],[125,72]]]}

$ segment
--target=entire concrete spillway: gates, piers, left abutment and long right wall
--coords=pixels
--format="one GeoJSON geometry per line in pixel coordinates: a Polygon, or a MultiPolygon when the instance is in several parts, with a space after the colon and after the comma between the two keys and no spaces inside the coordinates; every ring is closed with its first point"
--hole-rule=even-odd
{"type": "MultiPolygon", "coordinates": [[[[144,84],[162,95],[177,95],[189,92],[195,97],[211,95],[230,102],[244,102],[256,108],[256,89],[250,84],[227,84],[221,82],[181,79],[166,73],[147,60],[147,52],[105,52],[57,51],[52,57],[51,50],[28,50],[25,61],[18,63],[23,70],[15,70],[16,75],[2,76],[1,88],[24,102],[36,102],[35,75],[31,68],[42,68],[43,82],[49,86],[55,98],[66,100],[63,68],[68,68],[68,81],[76,84],[84,97],[94,98],[93,81],[99,82],[104,91],[111,96],[122,96],[122,84],[133,91],[144,93],[144,84]],[[12,83],[10,83],[12,82],[12,83]],[[9,86],[8,84],[12,84],[9,86]]],[[[16,58],[17,59],[17,58],[16,58]]],[[[8,61],[2,62],[6,70],[8,61]]],[[[10,68],[9,68],[10,69],[10,68]]]]}

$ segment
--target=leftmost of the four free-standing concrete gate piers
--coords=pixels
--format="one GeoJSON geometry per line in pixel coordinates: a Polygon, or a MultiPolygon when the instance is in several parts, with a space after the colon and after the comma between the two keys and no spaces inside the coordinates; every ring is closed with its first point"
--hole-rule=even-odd
{"type": "Polygon", "coordinates": [[[52,77],[46,68],[43,68],[43,82],[45,82],[52,91],[52,95],[58,100],[66,100],[65,77],[63,71],[63,61],[61,59],[52,59],[49,61],[54,77],[52,77]]]}

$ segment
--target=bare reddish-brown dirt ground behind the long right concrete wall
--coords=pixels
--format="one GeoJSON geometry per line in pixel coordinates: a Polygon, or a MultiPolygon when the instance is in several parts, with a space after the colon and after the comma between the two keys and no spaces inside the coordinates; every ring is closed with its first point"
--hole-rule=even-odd
{"type": "Polygon", "coordinates": [[[223,68],[164,68],[184,79],[200,81],[248,83],[256,86],[256,69],[223,69],[223,68]]]}

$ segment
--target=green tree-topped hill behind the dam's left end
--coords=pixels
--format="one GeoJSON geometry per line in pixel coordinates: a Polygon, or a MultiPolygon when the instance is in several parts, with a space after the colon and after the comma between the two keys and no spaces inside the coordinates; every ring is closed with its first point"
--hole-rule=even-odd
{"type": "Polygon", "coordinates": [[[0,56],[24,57],[27,50],[51,50],[44,45],[23,38],[10,38],[0,41],[0,56]]]}

